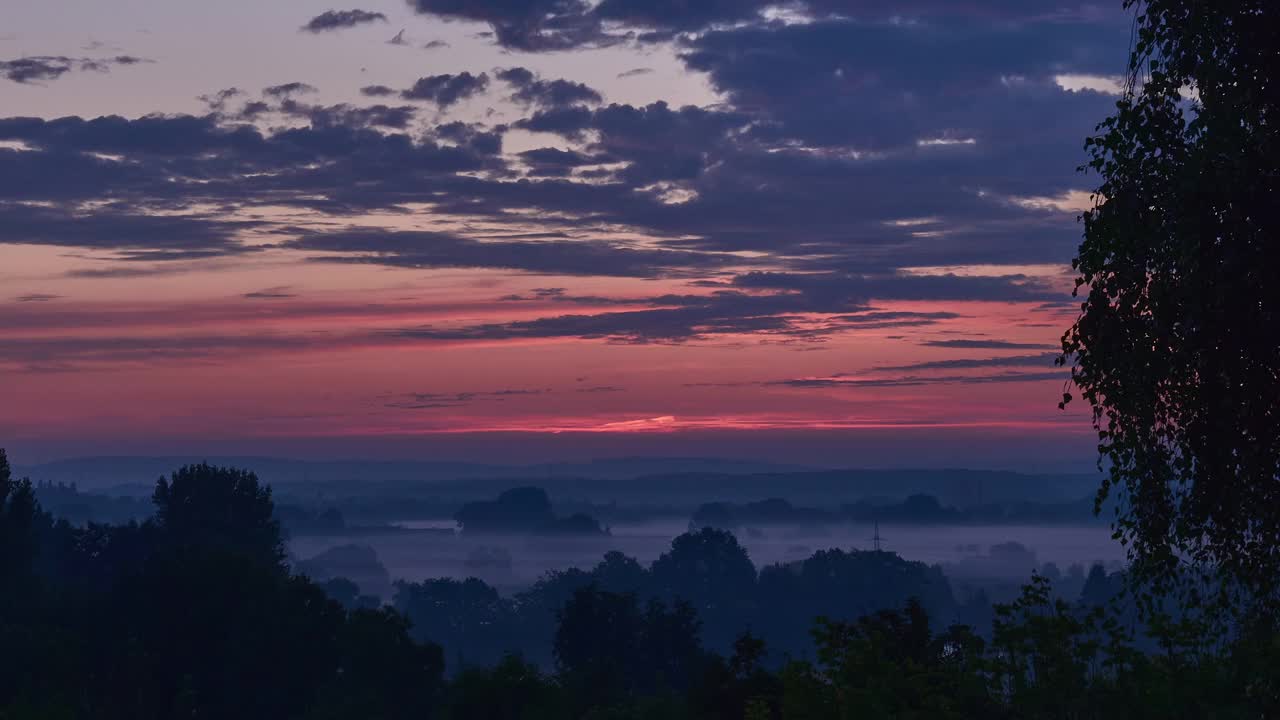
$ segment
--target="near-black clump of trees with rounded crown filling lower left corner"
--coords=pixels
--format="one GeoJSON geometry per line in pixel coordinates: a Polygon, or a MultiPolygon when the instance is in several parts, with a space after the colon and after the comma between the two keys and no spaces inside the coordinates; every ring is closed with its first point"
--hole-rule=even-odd
{"type": "Polygon", "coordinates": [[[188,466],[142,524],[54,523],[0,451],[0,717],[426,717],[443,656],[283,564],[271,493],[188,466]]]}

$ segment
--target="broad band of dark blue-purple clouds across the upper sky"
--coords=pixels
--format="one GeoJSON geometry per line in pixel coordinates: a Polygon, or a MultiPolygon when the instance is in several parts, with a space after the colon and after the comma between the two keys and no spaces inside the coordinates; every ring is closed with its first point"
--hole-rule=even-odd
{"type": "MultiPolygon", "coordinates": [[[[1064,263],[1079,242],[1074,215],[1015,200],[1079,188],[1079,137],[1114,99],[1065,91],[1053,78],[1096,74],[1123,58],[1128,36],[1114,32],[1115,13],[1091,15],[1070,1],[814,0],[796,5],[803,22],[787,23],[759,17],[758,3],[731,5],[413,3],[488,23],[508,47],[676,33],[681,61],[708,73],[724,99],[714,106],[605,105],[588,86],[517,67],[495,76],[525,105],[502,124],[451,113],[488,90],[484,73],[428,76],[403,90],[439,108],[433,122],[408,104],[308,104],[297,90],[238,111],[223,99],[225,109],[200,118],[9,118],[0,140],[23,151],[0,147],[0,197],[54,206],[82,224],[99,215],[115,224],[125,209],[180,217],[201,238],[182,251],[192,256],[243,254],[250,232],[271,233],[285,238],[282,251],[316,261],[684,278],[827,315],[820,328],[800,328],[760,311],[778,334],[948,322],[850,309],[872,301],[1062,300],[1060,278],[998,266],[1064,263]],[[503,155],[509,129],[563,141],[503,155]],[[974,142],[928,142],[966,138],[974,142]],[[489,229],[333,229],[371,213],[425,220],[422,202],[433,223],[489,229]],[[329,227],[228,224],[259,206],[323,213],[329,227]],[[212,229],[196,228],[204,224],[212,229]],[[961,265],[996,269],[936,270],[961,265]]],[[[401,90],[369,85],[362,95],[401,90]]],[[[73,225],[58,224],[58,243],[73,242],[73,225]]],[[[0,228],[0,241],[18,234],[0,228]]],[[[52,233],[44,234],[49,242],[52,233]]],[[[86,237],[88,247],[106,242],[86,237]]],[[[146,233],[134,233],[131,252],[148,243],[178,252],[146,233]]],[[[732,302],[756,318],[746,301],[732,302]]],[[[801,310],[777,313],[791,311],[801,310]]]]}

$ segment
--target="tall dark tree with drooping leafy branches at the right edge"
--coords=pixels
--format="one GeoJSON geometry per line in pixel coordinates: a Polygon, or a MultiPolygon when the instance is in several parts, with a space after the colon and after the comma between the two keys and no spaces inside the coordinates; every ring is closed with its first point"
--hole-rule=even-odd
{"type": "MultiPolygon", "coordinates": [[[[1280,6],[1126,0],[1128,88],[1087,141],[1101,186],[1062,338],[1134,578],[1280,598],[1280,6]],[[1197,571],[1187,571],[1197,570],[1197,571]]],[[[1070,401],[1070,395],[1065,396],[1070,401]]],[[[1236,597],[1233,597],[1236,596],[1236,597]]]]}

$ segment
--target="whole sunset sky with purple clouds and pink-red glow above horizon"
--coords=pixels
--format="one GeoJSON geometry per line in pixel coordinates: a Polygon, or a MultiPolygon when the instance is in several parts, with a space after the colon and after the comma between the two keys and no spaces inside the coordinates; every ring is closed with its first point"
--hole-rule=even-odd
{"type": "Polygon", "coordinates": [[[1089,469],[1119,5],[13,4],[0,441],[1089,469]]]}

